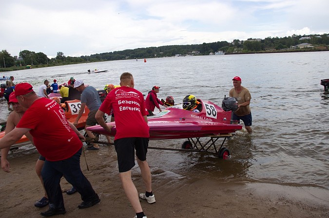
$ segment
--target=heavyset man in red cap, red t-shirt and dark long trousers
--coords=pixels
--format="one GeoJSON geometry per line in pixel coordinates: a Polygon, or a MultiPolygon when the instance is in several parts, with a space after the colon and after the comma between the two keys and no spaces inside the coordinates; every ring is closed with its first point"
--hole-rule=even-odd
{"type": "Polygon", "coordinates": [[[0,149],[10,147],[27,132],[33,136],[36,148],[46,159],[41,175],[49,199],[49,210],[40,214],[53,216],[66,213],[59,184],[62,176],[80,193],[82,203],[79,208],[97,204],[100,199],[80,168],[80,139],[84,136],[67,121],[56,101],[39,98],[31,84],[17,84],[15,96],[19,104],[28,109],[16,128],[0,139],[0,149]],[[51,130],[49,123],[54,127],[51,130]]]}

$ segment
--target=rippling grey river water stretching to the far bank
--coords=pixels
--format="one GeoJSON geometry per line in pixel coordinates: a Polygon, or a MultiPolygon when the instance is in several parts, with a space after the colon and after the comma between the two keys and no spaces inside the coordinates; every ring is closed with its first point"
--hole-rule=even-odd
{"type": "MultiPolygon", "coordinates": [[[[329,78],[329,52],[213,55],[83,63],[4,73],[16,83],[29,82],[35,90],[44,79],[67,83],[73,76],[97,89],[119,84],[131,72],[135,88],[147,94],[160,86],[158,97],[175,102],[194,94],[221,105],[240,76],[252,94],[252,134],[245,130],[225,142],[231,159],[212,154],[150,150],[150,165],[188,177],[218,181],[316,186],[329,189],[329,94],[321,79],[329,78]],[[108,72],[88,74],[88,69],[108,72]],[[154,158],[153,158],[154,157],[154,158]]],[[[8,116],[1,101],[0,121],[8,116]]],[[[46,119],[45,119],[46,121],[46,119]]],[[[180,148],[184,140],[151,141],[150,146],[180,148]]]]}

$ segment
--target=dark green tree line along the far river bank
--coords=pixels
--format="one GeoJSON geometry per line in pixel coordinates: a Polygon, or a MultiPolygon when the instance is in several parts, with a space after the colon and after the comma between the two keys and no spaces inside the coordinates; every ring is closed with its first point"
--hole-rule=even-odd
{"type": "Polygon", "coordinates": [[[175,54],[181,55],[209,55],[215,51],[222,50],[226,53],[243,53],[265,50],[285,50],[290,46],[296,46],[301,43],[310,43],[312,45],[327,47],[329,44],[328,34],[316,35],[295,35],[279,37],[267,37],[265,39],[248,39],[240,41],[234,39],[231,43],[227,41],[202,43],[198,45],[172,45],[149,48],[128,49],[121,51],[105,52],[100,54],[91,54],[89,56],[71,57],[65,56],[63,52],[58,51],[55,58],[48,58],[42,52],[22,50],[19,52],[21,59],[15,59],[7,50],[0,51],[0,67],[27,66],[27,65],[46,65],[56,66],[63,64],[77,64],[81,62],[97,62],[124,60],[136,58],[155,58],[171,57],[175,54]],[[307,37],[308,36],[308,37],[307,37]],[[300,40],[300,38],[306,38],[300,40]]]}

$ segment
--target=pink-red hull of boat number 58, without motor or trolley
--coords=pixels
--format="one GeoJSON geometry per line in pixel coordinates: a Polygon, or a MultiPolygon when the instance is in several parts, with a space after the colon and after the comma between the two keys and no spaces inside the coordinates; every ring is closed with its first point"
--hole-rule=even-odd
{"type": "MultiPolygon", "coordinates": [[[[150,139],[206,137],[234,133],[242,129],[241,125],[231,124],[231,111],[224,111],[211,101],[205,101],[202,104],[200,113],[183,110],[180,104],[168,107],[161,113],[149,117],[150,139]]],[[[107,125],[114,126],[111,133],[99,125],[88,127],[87,130],[114,136],[116,134],[115,122],[107,123],[107,125]]]]}

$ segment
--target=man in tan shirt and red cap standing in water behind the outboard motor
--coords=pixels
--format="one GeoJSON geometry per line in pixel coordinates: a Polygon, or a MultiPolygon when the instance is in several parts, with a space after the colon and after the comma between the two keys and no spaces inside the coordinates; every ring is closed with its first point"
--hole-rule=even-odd
{"type": "Polygon", "coordinates": [[[250,100],[252,96],[249,90],[241,85],[241,78],[236,76],[232,79],[233,86],[230,90],[230,97],[234,97],[238,101],[238,109],[233,112],[232,120],[237,121],[242,119],[248,133],[252,133],[252,112],[250,110],[250,100]]]}

